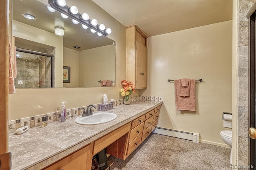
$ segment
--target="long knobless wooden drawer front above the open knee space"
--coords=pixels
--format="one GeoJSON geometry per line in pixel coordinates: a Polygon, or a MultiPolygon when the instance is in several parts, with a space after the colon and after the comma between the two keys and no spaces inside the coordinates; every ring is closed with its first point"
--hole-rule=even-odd
{"type": "Polygon", "coordinates": [[[94,142],[93,154],[100,152],[100,150],[106,148],[108,145],[114,143],[114,141],[124,136],[126,133],[128,133],[131,130],[130,127],[131,127],[131,122],[127,123],[126,125],[123,125],[122,127],[119,127],[118,129],[108,133],[104,137],[96,140],[94,142]]]}

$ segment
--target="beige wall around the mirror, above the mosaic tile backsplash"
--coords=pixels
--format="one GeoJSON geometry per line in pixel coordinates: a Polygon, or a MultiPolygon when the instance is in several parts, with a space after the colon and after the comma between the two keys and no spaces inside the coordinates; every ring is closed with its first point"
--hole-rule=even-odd
{"type": "MultiPolygon", "coordinates": [[[[100,103],[103,94],[109,99],[123,98],[118,82],[126,78],[126,28],[92,1],[72,0],[67,3],[70,3],[68,6],[78,6],[79,12],[88,12],[90,18],[96,18],[112,29],[108,37],[116,41],[116,87],[17,89],[16,94],[9,95],[9,120],[59,111],[62,101],[66,101],[66,107],[70,108],[100,103]]],[[[139,93],[140,90],[136,90],[133,96],[139,93]]]]}

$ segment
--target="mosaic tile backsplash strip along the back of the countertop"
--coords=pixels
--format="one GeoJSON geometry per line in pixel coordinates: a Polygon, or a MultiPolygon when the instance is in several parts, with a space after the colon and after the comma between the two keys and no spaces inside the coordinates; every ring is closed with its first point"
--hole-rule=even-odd
{"type": "MultiPolygon", "coordinates": [[[[156,97],[156,96],[135,96],[130,98],[131,102],[135,102],[138,100],[150,100],[150,101],[159,101],[162,102],[162,97],[156,97]]],[[[114,100],[113,106],[118,106],[124,104],[124,99],[120,100],[114,100]]],[[[92,111],[98,110],[98,104],[95,104],[97,106],[96,108],[92,107],[92,111]]],[[[76,117],[78,115],[82,115],[84,109],[86,109],[87,106],[83,107],[76,107],[73,109],[66,109],[66,119],[71,117],[76,117]]],[[[52,123],[54,121],[60,121],[60,111],[53,112],[53,113],[47,113],[43,115],[36,115],[32,117],[26,117],[22,119],[16,119],[9,121],[8,125],[8,132],[13,133],[16,129],[24,126],[30,127],[36,127],[42,125],[42,117],[47,116],[48,117],[48,123],[52,123]]]]}

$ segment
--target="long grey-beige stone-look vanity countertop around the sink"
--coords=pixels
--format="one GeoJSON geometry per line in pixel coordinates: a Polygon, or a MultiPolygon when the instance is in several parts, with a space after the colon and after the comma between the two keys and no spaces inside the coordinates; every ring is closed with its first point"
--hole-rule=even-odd
{"type": "Polygon", "coordinates": [[[139,100],[114,106],[107,112],[116,113],[117,118],[98,125],[80,125],[75,123],[76,117],[72,117],[65,122],[48,123],[46,127],[30,128],[21,135],[10,133],[11,170],[40,170],[160,104],[162,102],[139,100]]]}

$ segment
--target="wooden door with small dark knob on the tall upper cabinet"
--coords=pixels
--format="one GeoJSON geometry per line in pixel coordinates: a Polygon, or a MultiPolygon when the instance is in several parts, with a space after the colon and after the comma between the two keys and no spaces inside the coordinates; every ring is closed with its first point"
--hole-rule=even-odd
{"type": "Polygon", "coordinates": [[[136,88],[147,87],[147,47],[136,41],[136,88]]]}

